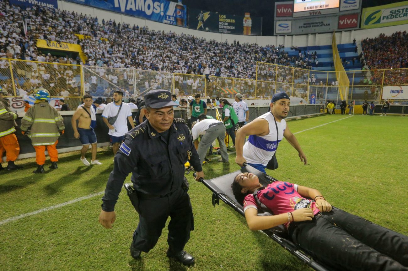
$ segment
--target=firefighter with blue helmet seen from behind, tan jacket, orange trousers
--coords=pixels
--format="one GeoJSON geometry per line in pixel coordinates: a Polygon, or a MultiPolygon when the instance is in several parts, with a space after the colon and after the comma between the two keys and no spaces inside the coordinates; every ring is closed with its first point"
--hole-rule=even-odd
{"type": "Polygon", "coordinates": [[[58,168],[58,151],[55,147],[58,143],[58,137],[64,133],[64,120],[58,111],[49,105],[49,92],[40,88],[34,95],[35,105],[28,109],[21,120],[22,134],[31,138],[31,144],[35,149],[35,162],[37,169],[33,173],[43,173],[45,164],[45,149],[50,156],[51,166],[49,168],[58,168]]]}

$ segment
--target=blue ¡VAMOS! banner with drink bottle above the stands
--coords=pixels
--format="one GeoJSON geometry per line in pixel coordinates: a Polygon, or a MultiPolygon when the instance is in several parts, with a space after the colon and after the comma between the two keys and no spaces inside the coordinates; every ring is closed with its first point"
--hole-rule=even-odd
{"type": "Polygon", "coordinates": [[[97,9],[142,17],[148,20],[187,27],[187,7],[179,0],[66,0],[97,9]]]}

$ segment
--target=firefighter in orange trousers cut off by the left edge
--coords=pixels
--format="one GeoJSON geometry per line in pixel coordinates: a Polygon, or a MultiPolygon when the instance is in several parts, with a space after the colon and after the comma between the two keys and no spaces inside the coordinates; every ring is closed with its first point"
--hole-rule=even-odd
{"type": "MultiPolygon", "coordinates": [[[[2,90],[0,87],[0,163],[3,162],[3,153],[6,151],[7,158],[7,170],[19,169],[21,166],[14,164],[20,153],[20,145],[18,144],[17,137],[14,134],[16,131],[17,123],[16,113],[10,110],[9,103],[3,98],[3,94],[7,94],[7,91],[2,90]]],[[[4,169],[0,164],[0,170],[4,169]]]]}

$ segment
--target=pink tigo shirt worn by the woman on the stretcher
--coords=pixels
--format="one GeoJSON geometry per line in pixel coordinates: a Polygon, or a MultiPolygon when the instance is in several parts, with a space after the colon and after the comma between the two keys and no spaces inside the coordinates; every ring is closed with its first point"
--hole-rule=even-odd
{"type": "MultiPolygon", "coordinates": [[[[275,181],[268,184],[265,189],[257,192],[257,197],[275,215],[293,212],[301,208],[310,208],[315,215],[319,212],[314,201],[299,195],[297,184],[286,181],[275,181]]],[[[247,195],[244,200],[244,212],[248,208],[258,209],[252,194],[247,195]]]]}

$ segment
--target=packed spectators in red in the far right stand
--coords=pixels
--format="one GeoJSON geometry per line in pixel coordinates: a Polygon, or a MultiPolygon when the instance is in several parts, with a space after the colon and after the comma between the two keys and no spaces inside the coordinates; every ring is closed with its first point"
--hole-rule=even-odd
{"type": "MultiPolygon", "coordinates": [[[[390,36],[381,33],[376,38],[361,41],[364,59],[369,70],[390,69],[384,75],[384,84],[408,84],[408,34],[406,31],[395,32],[390,36]],[[392,70],[391,70],[392,69],[392,70]]],[[[373,85],[381,85],[383,71],[371,71],[373,85]]]]}

